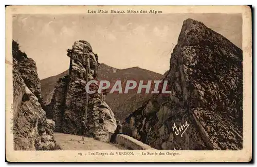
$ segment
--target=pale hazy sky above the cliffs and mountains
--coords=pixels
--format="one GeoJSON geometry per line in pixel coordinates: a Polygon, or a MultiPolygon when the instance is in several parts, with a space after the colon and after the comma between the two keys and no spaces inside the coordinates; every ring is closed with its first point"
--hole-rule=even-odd
{"type": "Polygon", "coordinates": [[[20,14],[13,19],[13,39],[35,60],[40,79],[67,70],[66,51],[80,39],[90,43],[100,63],[163,74],[187,18],[203,22],[242,49],[239,14],[20,14]]]}

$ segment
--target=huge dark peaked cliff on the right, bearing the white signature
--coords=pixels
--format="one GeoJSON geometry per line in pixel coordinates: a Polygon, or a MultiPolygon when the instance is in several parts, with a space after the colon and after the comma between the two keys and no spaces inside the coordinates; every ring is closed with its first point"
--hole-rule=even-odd
{"type": "Polygon", "coordinates": [[[242,149],[242,58],[228,39],[185,20],[164,77],[171,94],[146,101],[123,132],[156,149],[242,149]]]}

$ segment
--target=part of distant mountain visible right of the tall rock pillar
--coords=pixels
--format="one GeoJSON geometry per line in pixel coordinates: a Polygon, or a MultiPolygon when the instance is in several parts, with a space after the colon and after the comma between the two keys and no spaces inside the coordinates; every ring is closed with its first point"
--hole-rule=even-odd
{"type": "MultiPolygon", "coordinates": [[[[161,80],[163,75],[150,70],[132,67],[127,69],[115,69],[105,64],[100,64],[98,80],[108,80],[111,86],[116,80],[121,80],[122,86],[125,86],[127,80],[161,80]]],[[[124,90],[124,88],[123,88],[124,90]]],[[[137,94],[137,90],[130,90],[128,94],[107,94],[105,101],[113,110],[117,119],[123,119],[128,114],[142,105],[142,102],[152,97],[152,94],[137,94]]]]}

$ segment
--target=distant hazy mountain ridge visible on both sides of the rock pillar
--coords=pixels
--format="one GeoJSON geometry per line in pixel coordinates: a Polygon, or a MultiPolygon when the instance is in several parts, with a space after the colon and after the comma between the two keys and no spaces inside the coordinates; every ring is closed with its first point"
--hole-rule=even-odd
{"type": "MultiPolygon", "coordinates": [[[[52,98],[54,87],[57,85],[59,78],[64,77],[69,73],[68,70],[61,74],[51,76],[41,80],[41,89],[43,102],[47,105],[52,98]]],[[[126,80],[160,80],[163,75],[141,69],[139,67],[131,67],[126,69],[117,69],[105,64],[99,64],[98,80],[108,80],[111,86],[117,81],[121,80],[125,83],[126,80]]],[[[124,85],[124,84],[123,84],[124,85]]],[[[123,119],[126,115],[136,110],[142,105],[142,102],[151,98],[151,94],[137,94],[136,90],[130,90],[128,94],[107,94],[105,101],[113,110],[117,119],[123,119]]]]}

